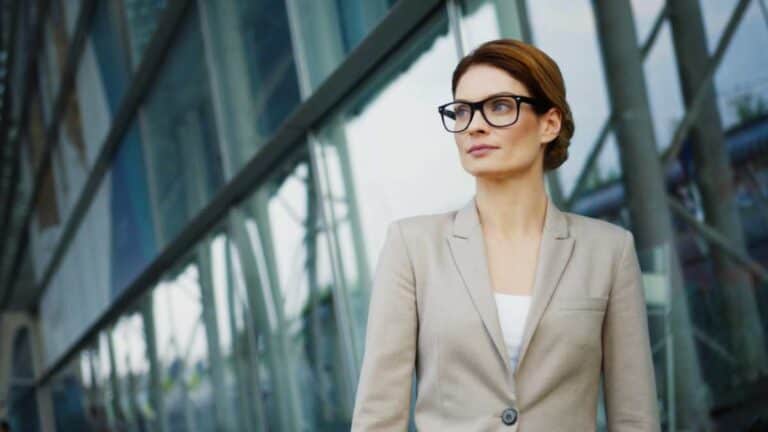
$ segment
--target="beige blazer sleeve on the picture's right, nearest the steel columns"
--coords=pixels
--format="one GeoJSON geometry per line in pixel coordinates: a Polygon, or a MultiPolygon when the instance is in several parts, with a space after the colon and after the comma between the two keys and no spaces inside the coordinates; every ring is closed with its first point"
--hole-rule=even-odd
{"type": "Polygon", "coordinates": [[[603,379],[610,432],[660,431],[648,315],[633,234],[625,230],[603,324],[603,379]]]}

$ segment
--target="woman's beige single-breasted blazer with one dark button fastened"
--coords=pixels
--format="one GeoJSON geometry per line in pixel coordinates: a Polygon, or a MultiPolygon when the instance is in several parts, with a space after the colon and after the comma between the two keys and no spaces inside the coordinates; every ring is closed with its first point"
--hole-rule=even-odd
{"type": "Polygon", "coordinates": [[[369,304],[352,431],[659,431],[632,233],[547,197],[531,308],[512,370],[475,197],[387,228],[369,304]]]}

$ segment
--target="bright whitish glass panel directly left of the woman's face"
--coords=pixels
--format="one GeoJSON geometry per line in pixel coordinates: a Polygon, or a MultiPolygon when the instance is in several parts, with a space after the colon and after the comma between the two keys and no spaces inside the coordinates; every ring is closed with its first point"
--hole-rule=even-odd
{"type": "Polygon", "coordinates": [[[437,112],[452,99],[457,59],[443,11],[404,46],[317,132],[324,205],[340,248],[357,361],[370,269],[387,224],[461,207],[474,189],[437,112]]]}

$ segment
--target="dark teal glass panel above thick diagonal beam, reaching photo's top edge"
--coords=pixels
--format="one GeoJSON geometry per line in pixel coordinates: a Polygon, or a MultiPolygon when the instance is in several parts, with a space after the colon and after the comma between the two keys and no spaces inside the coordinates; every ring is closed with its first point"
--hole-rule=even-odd
{"type": "Polygon", "coordinates": [[[282,1],[201,3],[206,62],[219,94],[218,132],[228,143],[232,176],[299,103],[288,19],[282,1]]]}

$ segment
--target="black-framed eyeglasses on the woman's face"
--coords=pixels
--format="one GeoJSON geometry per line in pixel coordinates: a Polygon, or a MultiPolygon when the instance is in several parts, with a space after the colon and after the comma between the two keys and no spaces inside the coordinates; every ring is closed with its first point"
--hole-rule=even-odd
{"type": "Polygon", "coordinates": [[[521,103],[530,104],[534,108],[541,107],[537,99],[528,96],[497,93],[477,102],[458,99],[438,106],[437,111],[443,120],[445,130],[459,133],[465,131],[472,123],[475,111],[480,111],[485,121],[491,126],[511,126],[520,118],[521,103]]]}

